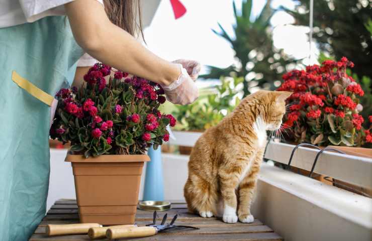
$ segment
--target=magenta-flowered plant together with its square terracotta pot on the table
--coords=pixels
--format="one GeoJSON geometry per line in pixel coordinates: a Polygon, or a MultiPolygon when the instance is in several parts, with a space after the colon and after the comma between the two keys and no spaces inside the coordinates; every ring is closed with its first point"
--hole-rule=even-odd
{"type": "Polygon", "coordinates": [[[80,222],[132,224],[145,151],[168,141],[172,115],[158,107],[162,88],[136,76],[96,64],[81,88],[61,89],[50,136],[71,148],[80,222]],[[106,78],[105,78],[106,77],[106,78]]]}

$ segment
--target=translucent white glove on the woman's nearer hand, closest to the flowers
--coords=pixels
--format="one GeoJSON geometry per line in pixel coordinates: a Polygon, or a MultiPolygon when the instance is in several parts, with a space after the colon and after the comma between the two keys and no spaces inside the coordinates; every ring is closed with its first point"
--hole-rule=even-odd
{"type": "Polygon", "coordinates": [[[161,87],[164,89],[166,98],[174,104],[191,104],[199,97],[199,90],[194,80],[190,77],[187,70],[181,64],[177,64],[181,73],[177,80],[168,86],[161,87]]]}

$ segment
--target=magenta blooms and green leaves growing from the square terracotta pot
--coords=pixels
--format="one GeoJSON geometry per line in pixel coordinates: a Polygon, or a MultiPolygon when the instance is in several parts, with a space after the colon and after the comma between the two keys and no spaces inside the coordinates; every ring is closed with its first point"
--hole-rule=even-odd
{"type": "Polygon", "coordinates": [[[151,145],[156,149],[169,140],[166,126],[173,127],[176,121],[158,109],[165,102],[163,89],[146,79],[121,71],[111,76],[112,72],[108,65],[95,64],[81,88],[56,94],[52,139],[70,141],[70,150],[86,158],[144,154],[151,145]]]}

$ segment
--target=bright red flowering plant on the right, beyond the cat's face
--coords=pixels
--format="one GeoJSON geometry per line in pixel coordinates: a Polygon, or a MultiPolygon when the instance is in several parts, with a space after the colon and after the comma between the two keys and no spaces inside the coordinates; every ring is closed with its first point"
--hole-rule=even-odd
{"type": "Polygon", "coordinates": [[[307,66],[306,70],[283,75],[284,83],[277,90],[293,91],[284,117],[291,141],[321,146],[361,146],[372,142],[370,128],[363,129],[364,120],[359,114],[363,106],[358,96],[364,92],[346,74],[346,68],[353,65],[343,57],[338,62],[326,60],[321,66],[307,66]]]}

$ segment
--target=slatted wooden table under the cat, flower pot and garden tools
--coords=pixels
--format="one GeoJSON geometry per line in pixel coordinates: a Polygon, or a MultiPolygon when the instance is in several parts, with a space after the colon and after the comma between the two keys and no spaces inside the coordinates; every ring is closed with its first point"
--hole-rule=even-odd
{"type": "MultiPolygon", "coordinates": [[[[199,227],[198,230],[181,229],[168,230],[166,233],[158,233],[155,236],[134,238],[130,240],[284,240],[270,227],[255,219],[253,223],[234,224],[224,223],[217,218],[203,218],[199,215],[190,214],[186,204],[180,201],[172,201],[172,208],[165,211],[168,213],[168,221],[178,214],[175,224],[192,225],[199,227]]],[[[158,212],[157,221],[160,223],[165,212],[158,212]]],[[[153,212],[137,210],[136,224],[139,226],[152,222],[153,212]]],[[[78,223],[77,205],[75,200],[61,199],[48,211],[40,223],[30,241],[39,240],[90,240],[88,235],[63,235],[48,237],[45,233],[47,224],[78,223]]],[[[99,239],[107,240],[107,239],[99,239]]],[[[123,239],[128,240],[128,239],[123,239]]]]}

